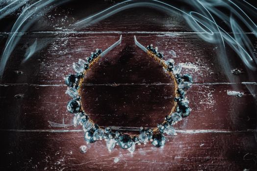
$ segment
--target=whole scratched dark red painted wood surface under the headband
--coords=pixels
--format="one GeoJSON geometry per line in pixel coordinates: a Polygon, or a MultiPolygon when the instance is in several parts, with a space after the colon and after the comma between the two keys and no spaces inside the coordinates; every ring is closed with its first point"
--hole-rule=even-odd
{"type": "MultiPolygon", "coordinates": [[[[69,27],[112,3],[65,3],[43,15],[25,35],[18,34],[21,40],[0,83],[0,169],[256,170],[256,102],[247,89],[256,88],[247,83],[254,80],[246,72],[227,78],[216,60],[217,45],[201,40],[177,13],[140,7],[86,28],[69,27]],[[104,141],[86,145],[83,131],[72,126],[72,115],[66,111],[70,98],[63,77],[73,72],[72,63],[96,48],[107,48],[121,34],[121,45],[87,73],[83,107],[100,126],[127,133],[162,122],[171,110],[172,81],[134,45],[133,36],[143,45],[153,43],[165,60],[181,63],[182,72],[192,74],[195,82],[187,92],[192,112],[176,126],[178,135],[168,137],[163,149],[147,144],[136,146],[130,154],[119,147],[108,152],[104,141]],[[24,61],[35,42],[44,47],[24,61]],[[228,90],[244,95],[229,96],[228,90]],[[79,151],[81,145],[87,146],[86,153],[79,151]]],[[[0,27],[2,51],[10,35],[9,23],[17,17],[12,14],[0,21],[6,25],[0,27]]],[[[245,71],[238,58],[231,58],[231,67],[245,71]]]]}

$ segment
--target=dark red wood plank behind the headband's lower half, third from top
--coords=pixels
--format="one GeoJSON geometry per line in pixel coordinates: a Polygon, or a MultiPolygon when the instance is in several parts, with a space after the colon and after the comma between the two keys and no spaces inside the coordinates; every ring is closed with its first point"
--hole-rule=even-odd
{"type": "MultiPolygon", "coordinates": [[[[256,85],[255,85],[256,87],[256,85]]],[[[71,126],[67,86],[2,86],[0,128],[56,129],[71,126]]],[[[156,127],[170,112],[172,85],[85,85],[83,107],[100,126],[156,127]]],[[[244,85],[193,85],[187,92],[192,112],[179,129],[247,130],[256,128],[255,101],[244,85]],[[243,92],[241,98],[228,90],[243,92]]],[[[78,127],[80,129],[80,127],[78,127]]]]}

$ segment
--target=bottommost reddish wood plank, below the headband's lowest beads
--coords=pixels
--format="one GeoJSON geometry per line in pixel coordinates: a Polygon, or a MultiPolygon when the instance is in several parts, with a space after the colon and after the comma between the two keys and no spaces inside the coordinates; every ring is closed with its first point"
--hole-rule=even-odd
{"type": "Polygon", "coordinates": [[[133,154],[116,147],[108,152],[104,141],[88,144],[82,132],[1,131],[1,170],[149,170],[254,171],[257,143],[253,133],[178,134],[163,149],[136,146],[133,154]],[[219,141],[217,141],[219,140],[219,141]],[[232,141],[231,141],[232,140],[232,141]],[[71,145],[72,144],[72,145],[71,145]],[[116,162],[115,162],[116,161],[116,162]]]}

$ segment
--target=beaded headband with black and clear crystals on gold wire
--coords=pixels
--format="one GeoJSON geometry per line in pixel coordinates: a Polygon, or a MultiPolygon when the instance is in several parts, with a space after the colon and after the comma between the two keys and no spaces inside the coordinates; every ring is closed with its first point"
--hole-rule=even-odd
{"type": "Polygon", "coordinates": [[[105,51],[101,49],[96,49],[95,52],[91,53],[90,57],[85,58],[85,60],[79,59],[77,63],[73,63],[73,68],[77,72],[76,74],[69,74],[65,79],[67,88],[66,94],[69,94],[73,99],[68,103],[67,110],[70,113],[75,114],[73,118],[73,124],[82,125],[85,132],[84,139],[87,143],[94,143],[97,140],[104,139],[106,141],[106,146],[109,151],[113,150],[116,145],[119,145],[122,149],[128,149],[131,153],[135,150],[135,145],[146,144],[149,141],[155,147],[163,147],[166,142],[164,133],[167,135],[177,135],[175,128],[173,127],[177,122],[182,120],[183,117],[187,117],[191,111],[188,107],[188,100],[185,97],[185,91],[189,88],[193,79],[189,74],[181,75],[181,65],[174,64],[173,59],[167,61],[162,60],[163,53],[158,52],[157,47],[153,48],[153,45],[148,45],[145,48],[142,44],[137,42],[134,36],[135,44],[145,51],[150,57],[154,58],[156,62],[161,64],[167,72],[175,85],[175,98],[174,106],[171,112],[165,117],[165,121],[162,124],[157,124],[157,128],[140,128],[140,134],[138,135],[128,135],[122,134],[120,131],[113,132],[111,128],[101,128],[95,124],[89,116],[85,113],[81,106],[80,101],[80,87],[83,83],[84,77],[87,71],[104,55],[106,55],[110,50],[121,43],[122,36],[119,41],[112,44],[105,51]]]}

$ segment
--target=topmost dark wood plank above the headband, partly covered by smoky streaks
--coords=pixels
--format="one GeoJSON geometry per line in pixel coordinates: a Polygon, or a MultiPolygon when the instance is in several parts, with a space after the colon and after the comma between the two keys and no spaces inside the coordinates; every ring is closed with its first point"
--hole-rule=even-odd
{"type": "MultiPolygon", "coordinates": [[[[30,3],[32,4],[32,1],[30,3]]],[[[142,28],[143,31],[192,31],[177,12],[159,11],[149,7],[130,8],[90,26],[72,25],[115,4],[106,0],[98,1],[97,5],[94,0],[78,0],[77,3],[70,1],[39,14],[39,20],[27,31],[138,31],[142,28]]],[[[17,13],[4,18],[1,23],[6,27],[1,27],[0,32],[10,30],[11,23],[15,22],[23,10],[21,8],[17,13]]]]}

